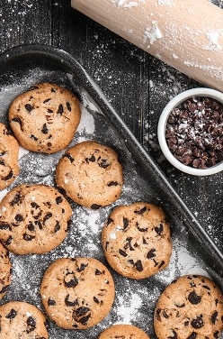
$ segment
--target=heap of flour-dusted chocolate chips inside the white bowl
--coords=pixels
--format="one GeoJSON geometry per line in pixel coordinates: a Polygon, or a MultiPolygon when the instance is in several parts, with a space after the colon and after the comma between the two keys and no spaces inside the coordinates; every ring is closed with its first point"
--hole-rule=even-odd
{"type": "Polygon", "coordinates": [[[165,138],[174,157],[187,166],[206,169],[223,158],[223,104],[209,97],[191,97],[175,107],[165,138]]]}

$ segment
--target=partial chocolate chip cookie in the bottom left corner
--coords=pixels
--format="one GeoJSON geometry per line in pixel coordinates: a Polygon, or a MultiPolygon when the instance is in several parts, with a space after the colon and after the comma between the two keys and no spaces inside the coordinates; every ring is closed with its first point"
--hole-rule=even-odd
{"type": "Polygon", "coordinates": [[[0,307],[0,338],[48,339],[46,318],[40,309],[22,301],[0,307]]]}

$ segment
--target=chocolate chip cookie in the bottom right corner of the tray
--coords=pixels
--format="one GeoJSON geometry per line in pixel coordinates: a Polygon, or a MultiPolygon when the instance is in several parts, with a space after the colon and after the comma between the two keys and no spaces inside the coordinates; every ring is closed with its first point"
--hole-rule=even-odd
{"type": "Polygon", "coordinates": [[[176,279],[158,298],[154,327],[158,339],[219,338],[223,329],[219,287],[200,275],[176,279]]]}

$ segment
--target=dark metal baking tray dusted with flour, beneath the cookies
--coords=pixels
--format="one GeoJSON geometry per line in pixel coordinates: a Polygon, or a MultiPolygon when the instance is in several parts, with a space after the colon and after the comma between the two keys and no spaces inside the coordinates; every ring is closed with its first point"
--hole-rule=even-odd
{"type": "MultiPolygon", "coordinates": [[[[155,276],[141,280],[121,277],[109,267],[116,287],[111,313],[102,323],[84,331],[64,330],[49,321],[49,339],[96,339],[104,328],[116,323],[138,325],[151,339],[156,338],[153,312],[165,286],[180,275],[194,273],[209,276],[223,289],[223,255],[112,109],[101,89],[67,52],[46,45],[25,45],[0,56],[0,120],[8,124],[7,110],[13,98],[43,81],[68,87],[80,97],[82,119],[69,147],[90,139],[114,148],[123,164],[124,188],[119,200],[97,211],[71,202],[71,228],[57,249],[40,255],[10,253],[13,281],[0,305],[10,300],[23,300],[44,311],[39,290],[49,263],[61,257],[90,256],[107,265],[101,244],[101,230],[107,216],[114,206],[147,201],[162,206],[169,218],[173,239],[169,266],[155,276]]],[[[21,183],[55,186],[55,169],[63,153],[46,155],[21,149],[21,172],[10,188],[21,183]]],[[[6,191],[1,192],[1,197],[6,191]]]]}

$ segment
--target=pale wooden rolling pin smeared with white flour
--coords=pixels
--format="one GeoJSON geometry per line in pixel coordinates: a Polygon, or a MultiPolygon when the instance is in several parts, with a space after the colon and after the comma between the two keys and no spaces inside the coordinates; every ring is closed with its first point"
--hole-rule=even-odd
{"type": "Polygon", "coordinates": [[[71,0],[73,8],[223,91],[223,10],[209,0],[71,0]]]}

